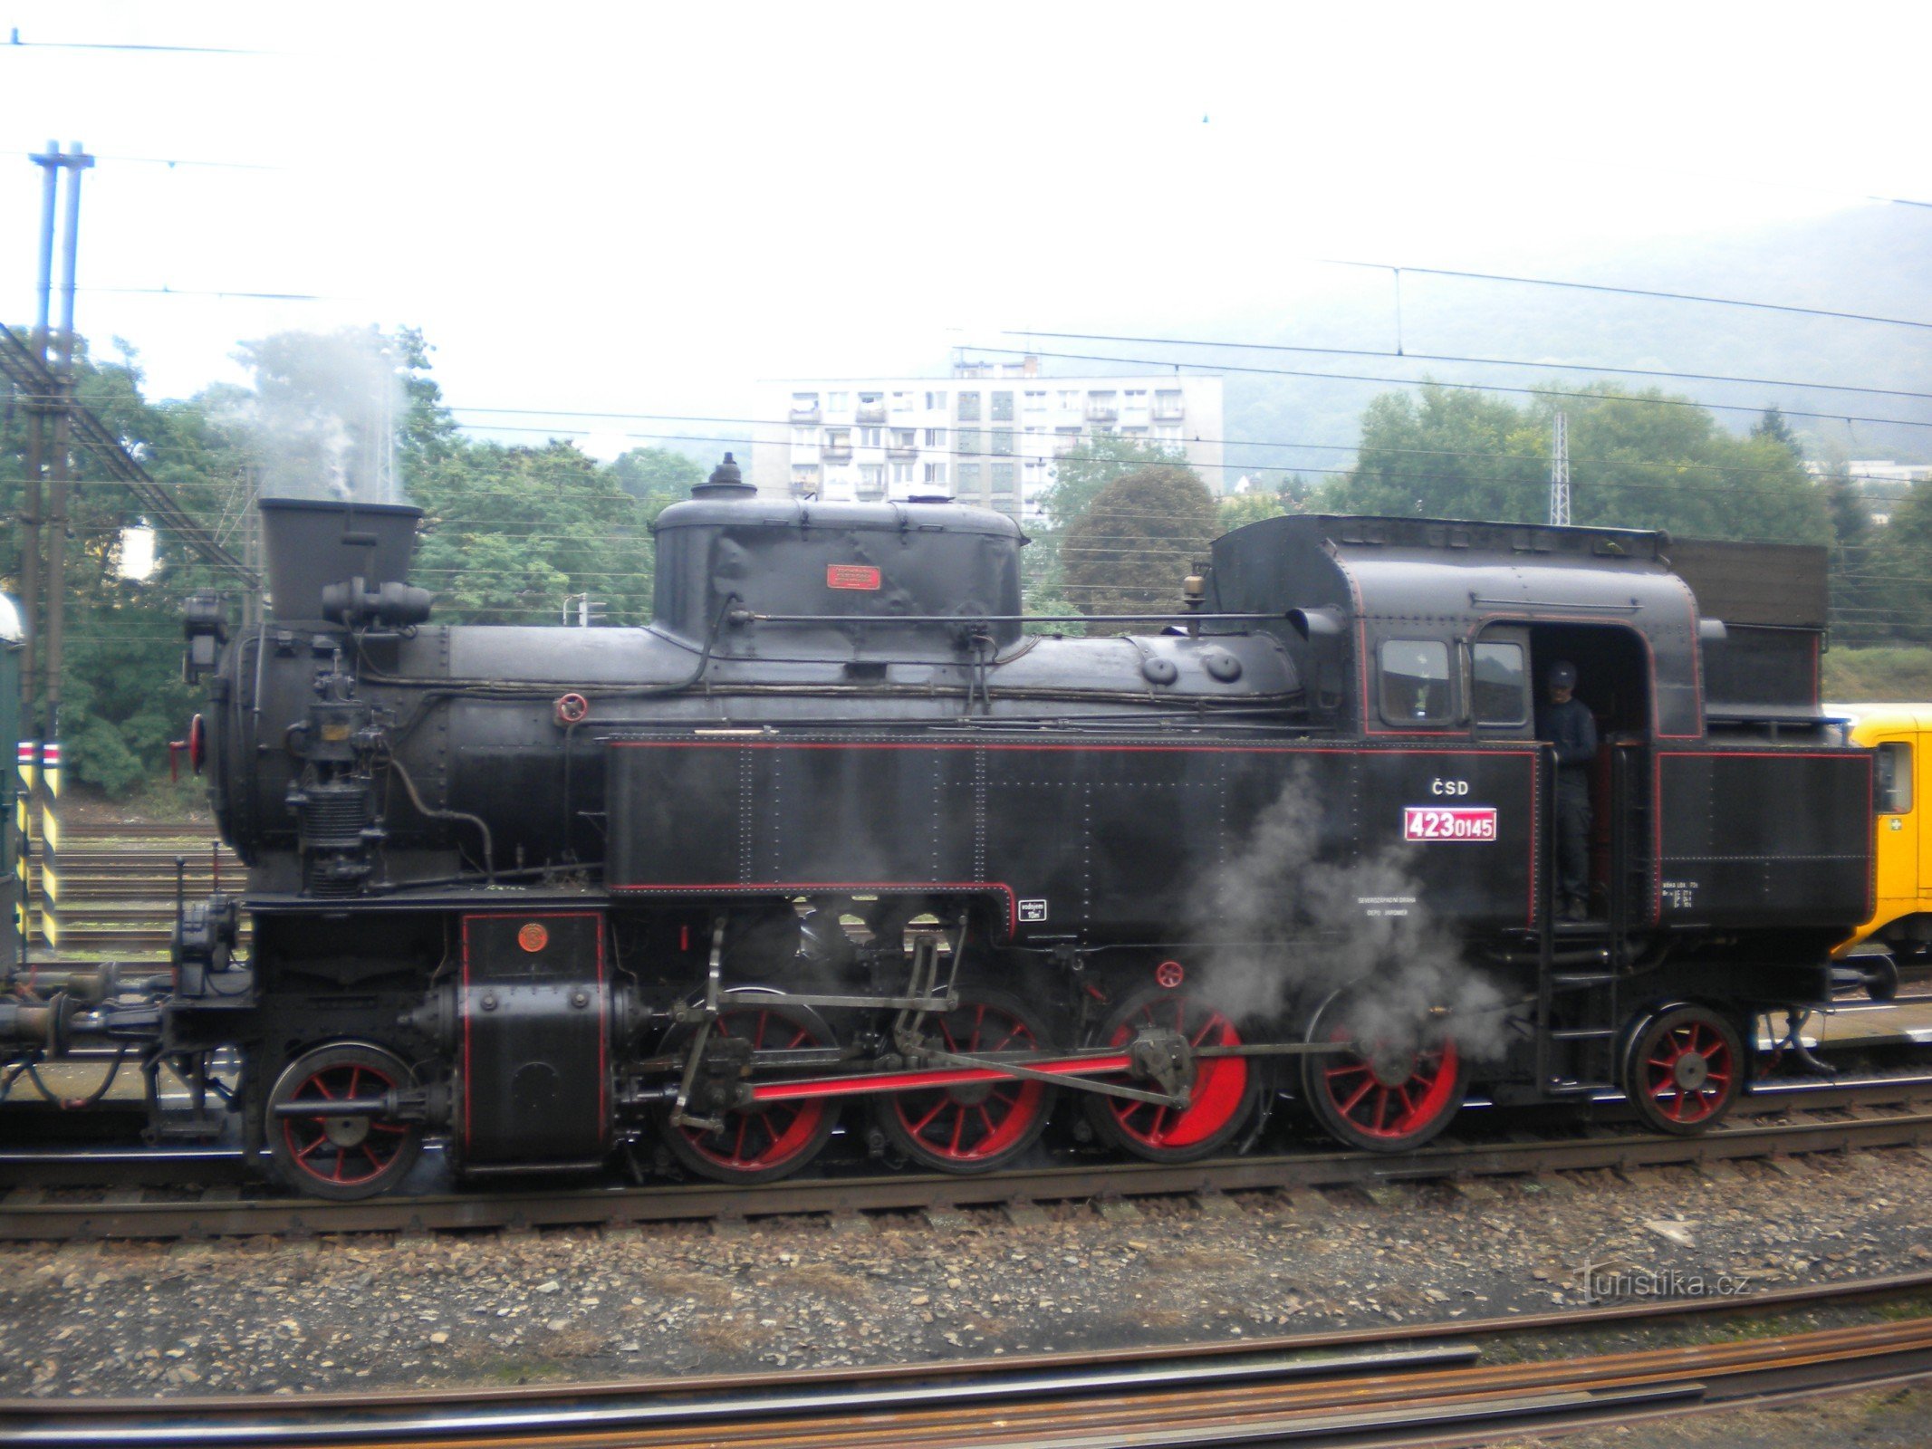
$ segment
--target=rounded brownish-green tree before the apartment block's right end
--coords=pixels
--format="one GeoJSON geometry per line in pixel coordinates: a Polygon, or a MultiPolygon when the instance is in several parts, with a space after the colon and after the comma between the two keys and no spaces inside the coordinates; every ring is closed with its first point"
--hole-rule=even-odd
{"type": "Polygon", "coordinates": [[[1090,616],[1175,612],[1180,580],[1215,533],[1215,502],[1194,469],[1140,468],[1094,495],[1066,529],[1065,593],[1090,616]]]}

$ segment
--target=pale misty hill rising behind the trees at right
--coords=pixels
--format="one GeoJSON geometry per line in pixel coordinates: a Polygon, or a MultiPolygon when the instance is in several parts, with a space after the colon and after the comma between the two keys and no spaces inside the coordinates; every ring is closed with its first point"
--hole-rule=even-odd
{"type": "MultiPolygon", "coordinates": [[[[1497,267],[1530,276],[1636,286],[1830,311],[1932,321],[1932,211],[1868,205],[1750,232],[1675,240],[1594,263],[1497,267]]],[[[1192,327],[1188,336],[1335,348],[1395,346],[1393,278],[1339,272],[1333,296],[1293,315],[1248,311],[1192,327]]],[[[1932,330],[1799,317],[1743,307],[1575,292],[1567,288],[1403,274],[1403,344],[1408,354],[1455,354],[1573,363],[1575,371],[1472,367],[1414,357],[1333,357],[1190,350],[1190,361],[1227,365],[1227,437],[1238,468],[1331,469],[1345,452],[1260,446],[1352,444],[1362,408],[1391,383],[1267,377],[1233,367],[1356,373],[1389,379],[1563,388],[1613,379],[1629,390],[1663,388],[1708,404],[1739,431],[1776,404],[1814,458],[1932,458],[1932,402],[1776,384],[1619,377],[1604,367],[1652,367],[1754,379],[1849,383],[1932,392],[1932,330]],[[1832,413],[1804,417],[1799,413],[1832,413]]]]}

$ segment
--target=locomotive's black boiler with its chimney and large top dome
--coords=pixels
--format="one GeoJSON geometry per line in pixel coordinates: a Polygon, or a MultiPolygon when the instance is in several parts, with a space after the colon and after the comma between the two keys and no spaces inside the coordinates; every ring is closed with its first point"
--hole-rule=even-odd
{"type": "Polygon", "coordinates": [[[408,583],[417,510],[265,500],[272,616],[228,638],[189,609],[211,798],[251,893],[601,866],[620,730],[1300,705],[1267,636],[1022,634],[1005,514],[767,500],[734,473],[661,516],[645,628],[431,624],[408,583]]]}

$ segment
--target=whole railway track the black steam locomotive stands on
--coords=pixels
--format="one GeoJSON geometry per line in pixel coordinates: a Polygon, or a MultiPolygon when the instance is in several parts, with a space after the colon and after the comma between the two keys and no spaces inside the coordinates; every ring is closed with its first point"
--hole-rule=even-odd
{"type": "MultiPolygon", "coordinates": [[[[1766,1107],[1766,1099],[1756,1099],[1766,1107]]],[[[1519,1179],[1548,1182],[1551,1175],[1594,1169],[1640,1169],[1673,1163],[1793,1157],[1818,1151],[1913,1148],[1932,1142],[1932,1078],[1801,1088],[1779,1094],[1785,1121],[1748,1121],[1700,1138],[1665,1138],[1638,1130],[1590,1128],[1582,1136],[1513,1134],[1503,1140],[1439,1140],[1401,1157],[1308,1150],[1213,1159],[1179,1167],[1095,1161],[947,1177],[927,1173],[848,1173],[786,1180],[763,1188],[676,1182],[647,1186],[520,1188],[497,1192],[435,1192],[410,1198],[323,1202],[274,1196],[259,1184],[240,1184],[238,1151],[201,1150],[195,1155],[153,1151],[0,1153],[0,1180],[19,1182],[0,1198],[0,1240],[122,1240],[313,1236],[340,1233],[475,1233],[539,1227],[622,1229],[667,1221],[738,1221],[817,1213],[850,1217],[893,1211],[1007,1208],[1024,1211],[1045,1202],[1126,1202],[1150,1196],[1231,1192],[1306,1192],[1316,1188],[1401,1190],[1424,1180],[1470,1182],[1519,1179]],[[120,1186],[97,1192],[48,1188],[62,1173],[91,1165],[93,1180],[120,1175],[120,1186]],[[213,1180],[201,1192],[184,1182],[213,1180]],[[131,1186],[160,1177],[149,1194],[131,1186]]],[[[1776,1111],[1777,1107],[1768,1107],[1776,1111]]]]}

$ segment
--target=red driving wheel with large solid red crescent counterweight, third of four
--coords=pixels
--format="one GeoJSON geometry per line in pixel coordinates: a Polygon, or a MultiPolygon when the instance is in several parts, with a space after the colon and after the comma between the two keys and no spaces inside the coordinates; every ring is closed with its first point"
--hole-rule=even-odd
{"type": "MultiPolygon", "coordinates": [[[[1136,991],[1107,1018],[1099,1041],[1128,1045],[1142,1028],[1171,1030],[1188,1045],[1236,1047],[1240,1032],[1211,1001],[1188,991],[1136,991]]],[[[1126,1086],[1153,1090],[1132,1080],[1126,1086]]],[[[1246,1057],[1194,1061],[1186,1107],[1163,1107],[1128,1097],[1088,1097],[1088,1121],[1103,1142],[1155,1163],[1186,1163],[1219,1151],[1248,1124],[1262,1097],[1262,1074],[1246,1057]]]]}

